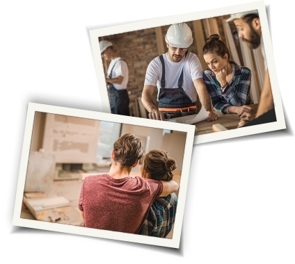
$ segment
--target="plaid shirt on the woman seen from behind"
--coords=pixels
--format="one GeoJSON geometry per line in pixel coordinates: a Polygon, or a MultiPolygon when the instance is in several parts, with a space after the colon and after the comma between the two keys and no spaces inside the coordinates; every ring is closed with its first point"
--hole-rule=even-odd
{"type": "Polygon", "coordinates": [[[175,193],[167,197],[158,197],[150,207],[139,234],[166,238],[175,222],[176,206],[175,193]]]}

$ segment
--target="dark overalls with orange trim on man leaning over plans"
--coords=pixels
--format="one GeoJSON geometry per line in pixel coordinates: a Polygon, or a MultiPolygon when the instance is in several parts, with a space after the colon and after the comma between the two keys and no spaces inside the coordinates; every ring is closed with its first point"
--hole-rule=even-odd
{"type": "MultiPolygon", "coordinates": [[[[185,56],[188,51],[186,51],[185,56]]],[[[163,55],[159,56],[162,64],[162,76],[161,76],[161,88],[158,96],[158,108],[186,108],[183,110],[165,111],[161,110],[165,119],[183,117],[186,115],[195,115],[197,112],[196,102],[192,102],[191,99],[186,95],[182,88],[184,81],[184,69],[178,79],[178,88],[165,88],[165,63],[163,55]],[[192,107],[192,108],[190,108],[192,107]]],[[[160,109],[159,109],[160,110],[160,109]]]]}

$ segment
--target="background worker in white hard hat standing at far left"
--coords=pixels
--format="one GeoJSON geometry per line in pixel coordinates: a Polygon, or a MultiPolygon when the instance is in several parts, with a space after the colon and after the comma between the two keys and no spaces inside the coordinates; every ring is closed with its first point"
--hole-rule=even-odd
{"type": "Polygon", "coordinates": [[[102,58],[110,60],[106,74],[109,102],[112,114],[130,115],[129,95],[127,92],[128,67],[122,58],[116,56],[113,43],[108,40],[99,41],[102,58]]]}

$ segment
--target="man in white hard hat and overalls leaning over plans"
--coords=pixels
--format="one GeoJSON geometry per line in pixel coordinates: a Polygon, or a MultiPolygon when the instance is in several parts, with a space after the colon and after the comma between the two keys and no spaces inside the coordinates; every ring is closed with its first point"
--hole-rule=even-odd
{"type": "Polygon", "coordinates": [[[202,66],[195,53],[187,51],[193,43],[191,28],[186,23],[173,24],[166,33],[168,52],[148,65],[141,101],[150,119],[170,119],[198,113],[197,96],[207,110],[208,121],[217,119],[207,88],[202,79],[202,66]],[[158,90],[158,106],[152,100],[158,90]]]}

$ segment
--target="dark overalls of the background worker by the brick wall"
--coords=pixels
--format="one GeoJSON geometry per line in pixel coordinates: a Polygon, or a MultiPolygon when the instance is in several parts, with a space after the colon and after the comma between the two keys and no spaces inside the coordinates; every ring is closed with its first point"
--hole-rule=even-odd
{"type": "MultiPolygon", "coordinates": [[[[119,60],[117,60],[115,63],[117,63],[118,61],[119,60]]],[[[115,67],[115,64],[113,65],[113,67],[115,67]]],[[[113,68],[111,69],[111,73],[108,76],[109,79],[111,79],[112,72],[113,68]]],[[[112,114],[130,115],[129,95],[126,89],[117,90],[113,87],[113,83],[108,83],[108,94],[112,114]]]]}

